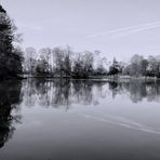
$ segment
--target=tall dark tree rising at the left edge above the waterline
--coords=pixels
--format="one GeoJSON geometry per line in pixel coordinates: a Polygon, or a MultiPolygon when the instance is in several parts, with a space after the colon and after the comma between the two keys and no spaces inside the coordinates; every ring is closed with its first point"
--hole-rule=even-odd
{"type": "Polygon", "coordinates": [[[22,71],[21,51],[13,46],[15,26],[0,5],[0,78],[16,77],[22,71]]]}

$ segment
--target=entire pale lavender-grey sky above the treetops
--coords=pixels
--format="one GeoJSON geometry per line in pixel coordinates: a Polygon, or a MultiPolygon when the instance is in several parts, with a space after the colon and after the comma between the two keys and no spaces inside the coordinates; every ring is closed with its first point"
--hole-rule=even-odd
{"type": "Polygon", "coordinates": [[[23,46],[70,45],[107,58],[160,55],[160,0],[1,0],[23,46]]]}

